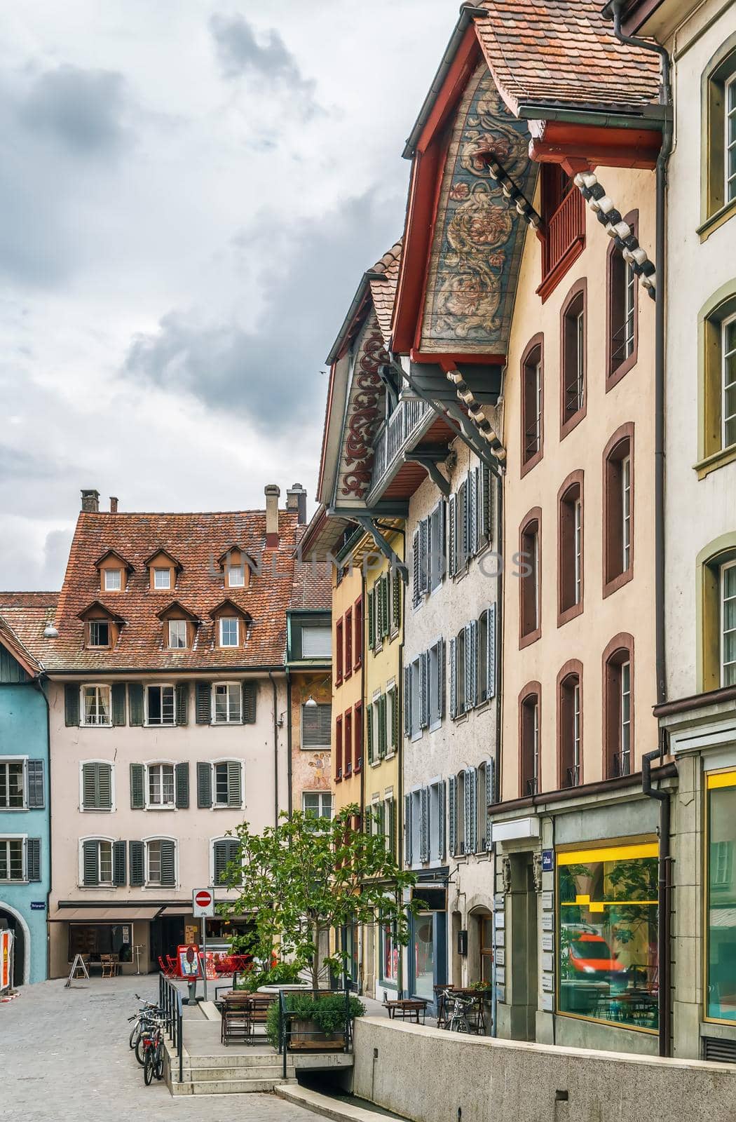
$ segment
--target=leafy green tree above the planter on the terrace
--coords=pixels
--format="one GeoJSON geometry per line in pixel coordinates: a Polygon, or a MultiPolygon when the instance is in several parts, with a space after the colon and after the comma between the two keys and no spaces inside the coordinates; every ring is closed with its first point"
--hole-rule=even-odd
{"type": "Polygon", "coordinates": [[[250,920],[243,950],[268,962],[277,948],[280,958],[309,972],[314,988],[322,967],[346,965],[342,953],[321,958],[323,931],[379,920],[394,927],[399,944],[408,942],[415,907],[403,900],[416,879],[402,871],[386,836],[371,828],[376,819],[369,810],[362,829],[356,829],[359,816],[357,804],[342,807],[332,819],[293,811],[260,834],[248,822],[233,831],[240,859],[230,862],[222,881],[239,894],[221,904],[221,912],[250,920]]]}

